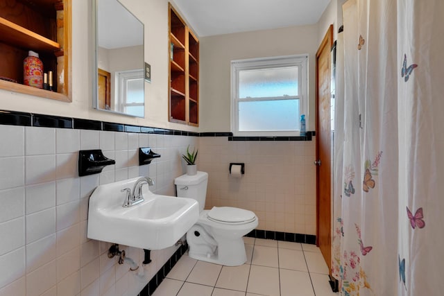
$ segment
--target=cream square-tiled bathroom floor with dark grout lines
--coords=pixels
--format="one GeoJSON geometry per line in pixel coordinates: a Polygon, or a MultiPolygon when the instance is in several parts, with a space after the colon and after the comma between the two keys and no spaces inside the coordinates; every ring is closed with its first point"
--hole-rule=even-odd
{"type": "Polygon", "coordinates": [[[154,296],[336,296],[316,245],[244,238],[248,261],[223,266],[186,254],[154,296]]]}

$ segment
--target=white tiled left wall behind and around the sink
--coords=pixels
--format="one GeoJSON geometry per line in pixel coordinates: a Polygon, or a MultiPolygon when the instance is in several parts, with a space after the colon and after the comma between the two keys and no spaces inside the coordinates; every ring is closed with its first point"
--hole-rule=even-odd
{"type": "MultiPolygon", "coordinates": [[[[177,247],[151,252],[144,274],[106,255],[110,243],[87,238],[88,198],[99,184],[148,175],[174,195],[185,173],[180,155],[196,137],[0,125],[0,296],[137,295],[177,247]],[[138,148],[162,157],[139,166],[138,148]],[[78,177],[78,150],[102,149],[116,165],[78,177]]],[[[139,265],[143,250],[121,246],[139,265]]]]}

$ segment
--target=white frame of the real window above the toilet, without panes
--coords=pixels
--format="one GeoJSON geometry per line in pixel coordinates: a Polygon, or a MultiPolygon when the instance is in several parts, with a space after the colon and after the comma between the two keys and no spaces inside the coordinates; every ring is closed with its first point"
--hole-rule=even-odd
{"type": "Polygon", "coordinates": [[[239,102],[242,101],[274,101],[282,99],[299,99],[299,118],[305,114],[308,121],[308,55],[286,55],[280,57],[252,58],[231,61],[231,131],[234,137],[295,137],[300,130],[273,131],[239,131],[239,102]],[[298,96],[279,96],[264,98],[239,98],[239,71],[255,69],[271,69],[280,67],[298,67],[298,96]]]}

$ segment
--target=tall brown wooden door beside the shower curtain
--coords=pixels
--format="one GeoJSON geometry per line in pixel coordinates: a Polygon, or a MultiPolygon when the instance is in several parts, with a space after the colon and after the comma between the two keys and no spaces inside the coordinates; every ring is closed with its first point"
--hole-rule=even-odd
{"type": "MultiPolygon", "coordinates": [[[[333,26],[316,53],[316,245],[331,270],[331,58],[333,26]]],[[[330,271],[331,274],[331,271],[330,271]]]]}

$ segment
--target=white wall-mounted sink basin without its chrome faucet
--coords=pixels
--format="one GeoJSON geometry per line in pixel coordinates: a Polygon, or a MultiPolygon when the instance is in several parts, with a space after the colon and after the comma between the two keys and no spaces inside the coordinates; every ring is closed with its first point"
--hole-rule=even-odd
{"type": "Polygon", "coordinates": [[[191,198],[157,195],[142,186],[144,201],[122,207],[139,177],[98,186],[89,198],[87,237],[147,250],[174,245],[199,218],[191,198]]]}

